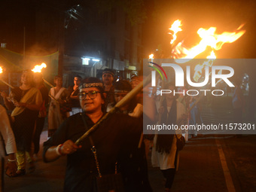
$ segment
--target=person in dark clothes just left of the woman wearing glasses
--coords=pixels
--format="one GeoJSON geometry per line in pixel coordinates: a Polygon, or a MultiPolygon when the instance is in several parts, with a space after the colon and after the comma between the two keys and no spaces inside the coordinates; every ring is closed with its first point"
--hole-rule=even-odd
{"type": "Polygon", "coordinates": [[[81,76],[76,75],[74,78],[74,86],[69,86],[69,92],[70,92],[70,102],[72,106],[72,111],[70,111],[70,116],[73,114],[77,114],[79,112],[82,112],[80,102],[79,102],[79,97],[78,97],[78,87],[81,84],[81,76]]]}

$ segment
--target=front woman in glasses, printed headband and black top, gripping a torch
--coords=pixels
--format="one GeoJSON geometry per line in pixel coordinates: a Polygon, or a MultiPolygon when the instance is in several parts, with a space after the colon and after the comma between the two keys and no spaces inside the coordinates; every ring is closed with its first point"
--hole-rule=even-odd
{"type": "MultiPolygon", "coordinates": [[[[43,157],[45,162],[51,162],[67,155],[64,191],[96,191],[95,181],[99,172],[90,140],[97,151],[101,174],[114,174],[116,163],[122,166],[123,158],[127,157],[131,148],[138,147],[142,120],[125,114],[112,114],[90,134],[90,139],[84,139],[80,145],[75,145],[75,141],[102,119],[105,111],[104,89],[99,79],[85,79],[78,95],[84,112],[69,117],[59,126],[56,133],[44,142],[43,157]]],[[[154,114],[151,117],[154,117],[154,114]]]]}

